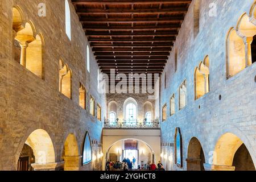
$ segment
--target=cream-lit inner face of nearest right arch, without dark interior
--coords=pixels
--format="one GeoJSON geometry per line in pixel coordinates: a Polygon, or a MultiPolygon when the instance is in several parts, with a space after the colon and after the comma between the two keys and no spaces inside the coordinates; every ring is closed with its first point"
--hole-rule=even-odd
{"type": "MultiPolygon", "coordinates": [[[[214,155],[213,155],[213,164],[215,166],[222,166],[225,168],[222,169],[236,169],[235,166],[232,166],[234,164],[234,157],[236,155],[236,152],[241,147],[246,148],[246,144],[243,143],[243,141],[237,137],[237,135],[233,133],[225,133],[223,134],[218,140],[214,147],[214,155]],[[243,146],[244,145],[244,146],[243,146]]],[[[249,159],[247,163],[249,162],[251,164],[251,168],[254,168],[255,170],[255,164],[253,163],[253,159],[251,158],[249,149],[246,148],[246,151],[249,154],[249,159]]]]}

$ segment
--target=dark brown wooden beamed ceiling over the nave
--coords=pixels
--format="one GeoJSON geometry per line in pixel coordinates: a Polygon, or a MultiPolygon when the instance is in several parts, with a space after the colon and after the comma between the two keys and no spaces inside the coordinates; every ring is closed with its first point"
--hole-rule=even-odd
{"type": "Polygon", "coordinates": [[[72,0],[102,72],[163,72],[192,0],[72,0]]]}

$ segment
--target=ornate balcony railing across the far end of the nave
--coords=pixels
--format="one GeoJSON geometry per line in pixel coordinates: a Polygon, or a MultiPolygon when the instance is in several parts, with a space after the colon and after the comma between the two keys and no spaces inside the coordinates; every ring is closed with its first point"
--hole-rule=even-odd
{"type": "Polygon", "coordinates": [[[110,122],[109,119],[104,120],[104,128],[106,129],[159,129],[160,123],[156,119],[154,121],[138,121],[134,120],[123,120],[110,122]]]}

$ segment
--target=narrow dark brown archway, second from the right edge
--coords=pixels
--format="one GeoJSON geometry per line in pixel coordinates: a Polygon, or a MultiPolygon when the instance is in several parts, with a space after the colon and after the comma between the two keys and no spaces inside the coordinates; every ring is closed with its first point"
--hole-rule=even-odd
{"type": "Polygon", "coordinates": [[[204,151],[199,140],[193,137],[188,145],[187,171],[204,171],[204,151]]]}

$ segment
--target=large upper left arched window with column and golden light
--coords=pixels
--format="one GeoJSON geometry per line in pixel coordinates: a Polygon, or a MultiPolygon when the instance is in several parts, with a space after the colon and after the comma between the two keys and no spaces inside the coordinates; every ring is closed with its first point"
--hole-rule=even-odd
{"type": "Polygon", "coordinates": [[[14,60],[40,78],[43,75],[43,36],[36,35],[34,24],[24,24],[18,7],[13,7],[14,60]]]}

